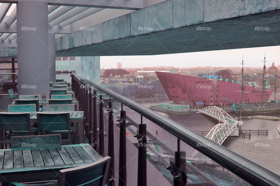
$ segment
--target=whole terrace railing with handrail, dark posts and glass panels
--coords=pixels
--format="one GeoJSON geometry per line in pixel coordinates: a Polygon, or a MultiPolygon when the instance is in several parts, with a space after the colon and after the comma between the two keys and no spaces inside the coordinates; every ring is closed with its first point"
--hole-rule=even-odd
{"type": "Polygon", "coordinates": [[[217,174],[206,176],[198,163],[209,169],[219,164],[243,185],[244,181],[247,185],[280,183],[277,174],[157,112],[74,73],[71,79],[80,110],[85,112],[89,144],[112,158],[108,185],[222,185],[228,181],[217,174]],[[191,157],[196,150],[200,154],[191,157]]]}

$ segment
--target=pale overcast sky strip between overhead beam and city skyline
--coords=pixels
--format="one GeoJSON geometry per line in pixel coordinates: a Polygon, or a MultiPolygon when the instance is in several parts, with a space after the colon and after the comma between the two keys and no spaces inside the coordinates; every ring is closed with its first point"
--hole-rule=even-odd
{"type": "Polygon", "coordinates": [[[218,50],[206,52],[177,53],[155,56],[101,56],[100,67],[105,69],[117,67],[117,62],[122,63],[122,67],[155,67],[155,66],[173,66],[173,67],[240,67],[242,54],[244,54],[244,67],[262,66],[264,54],[266,51],[267,67],[272,62],[280,65],[280,46],[258,47],[247,49],[218,50]]]}

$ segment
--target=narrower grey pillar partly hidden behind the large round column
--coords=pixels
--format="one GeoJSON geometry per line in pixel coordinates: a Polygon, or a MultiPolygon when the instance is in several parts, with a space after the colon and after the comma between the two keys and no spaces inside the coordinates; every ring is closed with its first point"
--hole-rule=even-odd
{"type": "Polygon", "coordinates": [[[49,74],[50,82],[55,82],[55,34],[49,33],[49,74]]]}

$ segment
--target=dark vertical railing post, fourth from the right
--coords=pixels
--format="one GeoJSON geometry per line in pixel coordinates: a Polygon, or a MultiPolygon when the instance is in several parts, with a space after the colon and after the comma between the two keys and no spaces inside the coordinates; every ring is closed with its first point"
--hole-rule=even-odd
{"type": "Polygon", "coordinates": [[[114,149],[114,120],[113,120],[113,109],[112,109],[112,102],[109,102],[109,108],[106,110],[109,113],[108,116],[108,156],[111,157],[110,169],[108,179],[109,182],[107,183],[109,186],[114,186],[114,170],[115,170],[115,149],[114,149]]]}

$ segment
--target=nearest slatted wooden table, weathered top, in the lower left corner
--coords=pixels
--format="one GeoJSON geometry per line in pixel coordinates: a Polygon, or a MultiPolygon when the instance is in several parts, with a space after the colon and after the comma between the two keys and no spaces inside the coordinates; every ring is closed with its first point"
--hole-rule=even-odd
{"type": "Polygon", "coordinates": [[[61,169],[102,157],[89,144],[0,150],[0,182],[55,178],[61,169]]]}

